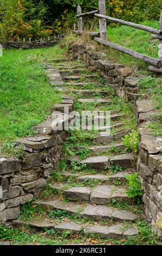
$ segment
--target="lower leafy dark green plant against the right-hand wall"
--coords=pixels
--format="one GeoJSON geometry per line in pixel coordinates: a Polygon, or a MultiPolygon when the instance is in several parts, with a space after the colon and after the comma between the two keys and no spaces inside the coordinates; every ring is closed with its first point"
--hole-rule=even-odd
{"type": "Polygon", "coordinates": [[[144,192],[141,190],[141,182],[138,178],[138,173],[135,172],[134,174],[124,175],[124,177],[127,179],[128,191],[126,193],[128,197],[141,199],[144,192]]]}

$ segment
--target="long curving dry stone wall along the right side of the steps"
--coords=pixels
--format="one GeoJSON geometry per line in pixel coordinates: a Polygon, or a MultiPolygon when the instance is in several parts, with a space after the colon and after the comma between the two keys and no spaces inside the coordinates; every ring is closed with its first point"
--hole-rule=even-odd
{"type": "Polygon", "coordinates": [[[137,169],[144,190],[145,214],[152,230],[162,237],[162,137],[154,137],[148,129],[152,115],[157,111],[148,95],[139,100],[142,97],[137,86],[139,78],[133,77],[130,68],[110,63],[104,53],[96,52],[93,45],[71,44],[69,53],[73,59],[84,60],[100,71],[117,95],[133,103],[140,132],[137,169]]]}

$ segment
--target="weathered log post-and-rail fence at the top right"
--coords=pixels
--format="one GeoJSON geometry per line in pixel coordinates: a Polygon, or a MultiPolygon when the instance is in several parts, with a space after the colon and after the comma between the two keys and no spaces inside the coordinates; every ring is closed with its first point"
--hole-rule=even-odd
{"type": "MultiPolygon", "coordinates": [[[[114,48],[117,51],[127,53],[130,56],[135,57],[136,59],[140,59],[143,62],[150,64],[148,66],[148,70],[152,72],[162,73],[162,10],[160,15],[160,26],[159,29],[139,25],[133,22],[124,21],[120,19],[116,19],[113,17],[109,17],[106,15],[106,5],[105,0],[98,0],[98,10],[90,11],[88,13],[82,13],[82,8],[80,5],[77,7],[77,19],[78,19],[78,31],[76,31],[76,25],[74,24],[74,32],[77,34],[83,33],[83,17],[84,16],[95,16],[99,19],[99,38],[95,38],[99,44],[103,44],[105,46],[114,48]],[[146,56],[142,53],[130,50],[129,48],[120,46],[118,44],[114,44],[113,42],[108,41],[108,34],[107,34],[107,20],[117,22],[129,27],[142,29],[149,33],[152,33],[151,38],[155,40],[159,40],[159,52],[158,52],[158,59],[146,56]]],[[[89,32],[90,35],[97,35],[97,32],[89,32]]]]}

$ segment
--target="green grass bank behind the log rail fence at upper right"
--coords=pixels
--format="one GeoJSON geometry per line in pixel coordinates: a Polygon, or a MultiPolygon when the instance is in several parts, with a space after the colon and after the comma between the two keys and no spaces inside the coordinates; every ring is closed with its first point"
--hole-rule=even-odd
{"type": "MultiPolygon", "coordinates": [[[[159,28],[158,21],[145,21],[142,22],[142,25],[157,29],[159,28]]],[[[158,40],[153,40],[151,38],[151,33],[128,26],[108,27],[107,32],[108,41],[115,42],[116,44],[153,58],[158,57],[158,40]]],[[[101,45],[99,48],[101,48],[101,45]]],[[[113,62],[123,63],[130,66],[137,74],[139,72],[148,74],[148,64],[109,47],[105,48],[105,52],[113,62]]]]}

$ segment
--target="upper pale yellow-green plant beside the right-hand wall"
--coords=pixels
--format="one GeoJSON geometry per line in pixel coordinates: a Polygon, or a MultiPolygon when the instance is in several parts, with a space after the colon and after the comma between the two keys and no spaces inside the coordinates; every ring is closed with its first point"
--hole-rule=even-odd
{"type": "Polygon", "coordinates": [[[138,131],[130,132],[122,139],[122,141],[123,145],[126,146],[127,151],[132,151],[133,154],[138,153],[138,146],[140,143],[138,131]]]}

